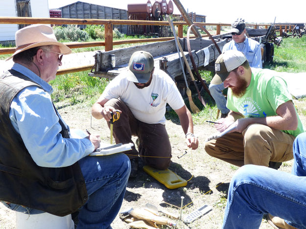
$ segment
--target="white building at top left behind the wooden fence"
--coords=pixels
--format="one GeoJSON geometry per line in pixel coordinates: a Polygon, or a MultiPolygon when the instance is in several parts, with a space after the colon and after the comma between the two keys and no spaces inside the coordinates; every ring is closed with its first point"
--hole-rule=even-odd
{"type": "MultiPolygon", "coordinates": [[[[1,0],[1,17],[49,18],[48,0],[1,0]]],[[[0,24],[0,43],[15,41],[19,24],[0,24]]]]}

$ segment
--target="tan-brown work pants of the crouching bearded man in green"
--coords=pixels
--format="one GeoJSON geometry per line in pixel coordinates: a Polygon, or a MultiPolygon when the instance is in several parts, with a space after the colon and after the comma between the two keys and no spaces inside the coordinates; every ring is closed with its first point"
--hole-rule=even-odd
{"type": "Polygon", "coordinates": [[[269,161],[293,159],[295,137],[266,125],[249,125],[242,133],[234,132],[205,143],[205,151],[212,157],[242,166],[269,166],[269,161]]]}

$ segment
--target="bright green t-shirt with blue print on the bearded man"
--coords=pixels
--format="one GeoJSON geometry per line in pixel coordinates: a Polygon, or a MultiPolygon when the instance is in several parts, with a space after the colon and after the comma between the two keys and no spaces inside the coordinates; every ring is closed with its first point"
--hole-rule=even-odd
{"type": "MultiPolygon", "coordinates": [[[[274,116],[277,108],[292,100],[291,94],[287,90],[286,82],[276,72],[269,69],[252,69],[252,78],[245,94],[237,98],[232,95],[232,90],[228,90],[228,109],[239,112],[244,117],[266,117],[274,116]]],[[[282,130],[284,133],[298,136],[305,132],[301,119],[298,116],[298,128],[295,131],[282,130]]]]}

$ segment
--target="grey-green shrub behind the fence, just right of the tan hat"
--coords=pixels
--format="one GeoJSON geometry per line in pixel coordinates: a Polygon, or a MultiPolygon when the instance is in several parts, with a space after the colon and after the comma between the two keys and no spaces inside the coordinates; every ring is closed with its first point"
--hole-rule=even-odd
{"type": "Polygon", "coordinates": [[[69,24],[67,27],[55,26],[54,33],[58,41],[86,41],[89,35],[86,31],[81,30],[76,25],[69,24]]]}

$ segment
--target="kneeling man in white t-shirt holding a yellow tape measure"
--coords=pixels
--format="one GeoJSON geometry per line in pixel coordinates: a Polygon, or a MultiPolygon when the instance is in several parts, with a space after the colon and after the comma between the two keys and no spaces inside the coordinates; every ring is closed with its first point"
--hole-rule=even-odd
{"type": "Polygon", "coordinates": [[[134,52],[129,68],[116,76],[92,107],[92,115],[110,121],[111,112],[119,110],[114,122],[116,142],[128,143],[132,135],[139,139],[139,147],[125,153],[131,160],[131,178],[137,176],[139,154],[146,165],[166,169],[171,162],[171,145],[165,129],[166,103],[179,116],[186,144],[198,147],[193,135],[192,116],[174,81],[161,69],[154,69],[153,56],[146,51],[134,52]]]}

